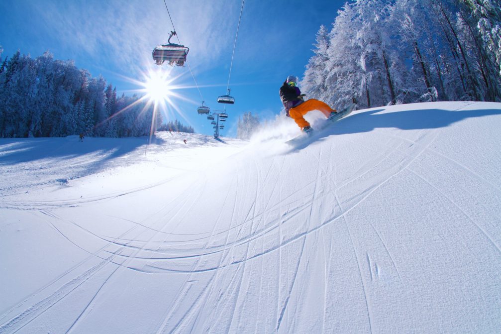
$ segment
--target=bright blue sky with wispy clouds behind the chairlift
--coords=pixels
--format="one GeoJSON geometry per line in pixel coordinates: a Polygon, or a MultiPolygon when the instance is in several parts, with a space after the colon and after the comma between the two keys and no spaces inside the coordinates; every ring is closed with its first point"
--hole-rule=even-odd
{"type": "MultiPolygon", "coordinates": [[[[205,104],[221,109],[216,99],[226,94],[241,1],[166,3],[180,42],[190,48],[188,62],[205,104]]],[[[303,75],[320,25],[330,28],[343,4],[245,0],[229,85],[235,104],[226,107],[222,135],[236,135],[243,112],[261,119],[280,112],[278,90],[284,79],[303,75]]],[[[144,81],[144,73],[160,70],[151,52],[167,42],[171,30],[163,0],[0,0],[3,58],[17,50],[32,57],[48,50],[55,59],[73,59],[94,77],[101,74],[126,95],[142,88],[134,81],[144,81]]],[[[206,117],[196,113],[201,97],[188,67],[163,65],[161,70],[176,78],[173,85],[184,87],[175,90],[177,110],[169,107],[164,119],[177,118],[198,133],[212,133],[206,117]]]]}

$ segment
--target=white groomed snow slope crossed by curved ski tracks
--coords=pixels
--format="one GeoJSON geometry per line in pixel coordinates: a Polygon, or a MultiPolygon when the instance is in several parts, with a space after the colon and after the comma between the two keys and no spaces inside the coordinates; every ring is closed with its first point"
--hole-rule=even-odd
{"type": "Polygon", "coordinates": [[[0,139],[0,333],[501,332],[499,128],[441,102],[296,147],[0,139]]]}

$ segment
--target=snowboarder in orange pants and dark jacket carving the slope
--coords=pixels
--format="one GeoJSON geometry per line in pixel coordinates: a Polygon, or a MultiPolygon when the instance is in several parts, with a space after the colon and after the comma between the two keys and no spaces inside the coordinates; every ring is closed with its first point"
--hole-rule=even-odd
{"type": "Polygon", "coordinates": [[[287,116],[293,118],[302,131],[308,133],[312,128],[303,116],[309,111],[320,110],[327,118],[336,114],[337,111],[319,100],[309,99],[305,101],[304,97],[306,95],[301,94],[297,83],[298,79],[294,75],[288,76],[282,87],[280,87],[280,99],[284,104],[287,116]]]}

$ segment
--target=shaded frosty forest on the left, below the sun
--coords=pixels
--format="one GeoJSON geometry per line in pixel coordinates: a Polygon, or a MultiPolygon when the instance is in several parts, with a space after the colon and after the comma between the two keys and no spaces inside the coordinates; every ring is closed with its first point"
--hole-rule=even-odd
{"type": "MultiPolygon", "coordinates": [[[[0,63],[0,138],[149,135],[164,121],[159,113],[153,120],[153,107],[141,97],[117,96],[116,87],[71,60],[18,51],[0,63]]],[[[177,120],[163,125],[193,132],[177,120]]]]}

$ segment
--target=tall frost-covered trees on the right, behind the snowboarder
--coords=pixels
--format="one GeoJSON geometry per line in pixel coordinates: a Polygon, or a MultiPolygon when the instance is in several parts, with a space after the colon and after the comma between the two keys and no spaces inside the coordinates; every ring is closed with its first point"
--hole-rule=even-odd
{"type": "Polygon", "coordinates": [[[302,90],[338,108],[501,101],[499,0],[357,0],[316,41],[302,90]]]}

